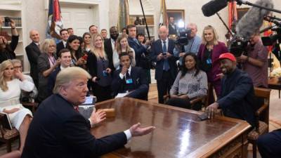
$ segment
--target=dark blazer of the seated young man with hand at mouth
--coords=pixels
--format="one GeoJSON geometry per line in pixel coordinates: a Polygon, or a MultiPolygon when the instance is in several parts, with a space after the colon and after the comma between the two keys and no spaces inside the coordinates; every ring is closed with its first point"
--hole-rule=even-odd
{"type": "MultiPolygon", "coordinates": [[[[117,96],[118,93],[124,93],[124,79],[119,77],[122,68],[116,70],[113,76],[111,88],[113,95],[117,96]]],[[[148,79],[145,71],[141,67],[131,67],[131,78],[133,79],[133,89],[127,97],[148,100],[148,79]]]]}

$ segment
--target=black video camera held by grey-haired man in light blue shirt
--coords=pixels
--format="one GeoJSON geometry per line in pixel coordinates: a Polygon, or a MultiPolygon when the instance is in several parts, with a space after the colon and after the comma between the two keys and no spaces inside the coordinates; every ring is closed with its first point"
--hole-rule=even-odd
{"type": "Polygon", "coordinates": [[[180,52],[184,52],[184,46],[188,44],[188,37],[191,34],[191,29],[180,28],[178,29],[179,36],[175,41],[175,44],[180,49],[180,52]]]}

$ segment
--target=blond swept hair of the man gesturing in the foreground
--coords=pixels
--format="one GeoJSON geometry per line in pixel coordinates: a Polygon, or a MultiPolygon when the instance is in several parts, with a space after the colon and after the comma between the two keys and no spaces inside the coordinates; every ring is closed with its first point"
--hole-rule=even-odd
{"type": "Polygon", "coordinates": [[[81,67],[67,67],[61,70],[55,79],[53,93],[59,93],[62,86],[67,86],[74,79],[80,79],[81,77],[91,79],[91,75],[81,67]]]}

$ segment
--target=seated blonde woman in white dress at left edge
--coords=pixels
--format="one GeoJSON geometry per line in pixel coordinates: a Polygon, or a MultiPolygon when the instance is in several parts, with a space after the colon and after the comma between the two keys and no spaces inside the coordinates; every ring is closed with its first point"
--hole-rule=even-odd
{"type": "Polygon", "coordinates": [[[25,145],[27,130],[32,120],[32,112],[20,104],[20,91],[32,91],[34,84],[27,81],[21,72],[14,72],[11,60],[0,65],[0,112],[5,112],[12,126],[20,133],[20,152],[25,145]],[[14,76],[13,76],[14,75],[14,76]]]}

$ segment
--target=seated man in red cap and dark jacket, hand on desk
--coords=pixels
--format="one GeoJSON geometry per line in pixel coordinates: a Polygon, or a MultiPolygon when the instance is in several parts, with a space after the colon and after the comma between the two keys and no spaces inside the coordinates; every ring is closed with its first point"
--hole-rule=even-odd
{"type": "Polygon", "coordinates": [[[237,69],[236,59],[232,53],[219,56],[223,72],[221,96],[207,107],[209,117],[214,117],[216,109],[221,108],[226,117],[246,120],[251,126],[254,123],[254,86],[249,75],[237,69]]]}

